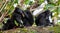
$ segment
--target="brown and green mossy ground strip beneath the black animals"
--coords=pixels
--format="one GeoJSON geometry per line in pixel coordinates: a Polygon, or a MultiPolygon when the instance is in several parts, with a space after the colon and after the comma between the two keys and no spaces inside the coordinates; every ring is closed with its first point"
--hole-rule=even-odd
{"type": "Polygon", "coordinates": [[[59,33],[59,32],[60,32],[60,26],[55,26],[55,27],[32,26],[32,27],[24,27],[24,28],[16,28],[6,31],[0,31],[0,33],[59,33]]]}

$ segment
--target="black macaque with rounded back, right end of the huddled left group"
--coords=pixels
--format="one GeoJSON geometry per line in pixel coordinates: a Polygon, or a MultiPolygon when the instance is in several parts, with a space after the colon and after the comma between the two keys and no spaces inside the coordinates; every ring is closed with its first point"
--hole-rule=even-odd
{"type": "Polygon", "coordinates": [[[32,13],[29,10],[25,10],[24,15],[25,15],[23,20],[24,26],[32,26],[34,23],[34,18],[32,13]]]}

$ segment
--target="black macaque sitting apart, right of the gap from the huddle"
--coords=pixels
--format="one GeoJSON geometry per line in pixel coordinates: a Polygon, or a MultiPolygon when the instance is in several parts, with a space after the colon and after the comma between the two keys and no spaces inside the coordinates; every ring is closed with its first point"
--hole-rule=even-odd
{"type": "Polygon", "coordinates": [[[52,18],[52,12],[46,10],[36,17],[35,23],[37,26],[49,26],[52,22],[49,20],[49,16],[52,18]]]}

